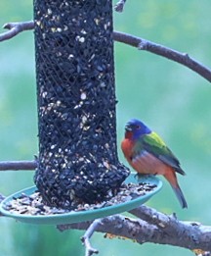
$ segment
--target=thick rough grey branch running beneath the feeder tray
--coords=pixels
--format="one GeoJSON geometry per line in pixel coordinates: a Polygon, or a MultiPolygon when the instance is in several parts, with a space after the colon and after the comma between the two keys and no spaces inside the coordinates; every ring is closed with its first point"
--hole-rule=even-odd
{"type": "MultiPolygon", "coordinates": [[[[136,240],[140,244],[152,242],[170,244],[190,250],[200,248],[204,251],[211,251],[211,227],[178,221],[175,217],[164,215],[148,207],[140,207],[135,211],[142,216],[148,216],[148,219],[152,222],[114,215],[102,219],[95,230],[127,237],[136,240]],[[150,211],[154,215],[150,216],[150,211]]],[[[60,225],[58,229],[61,231],[70,229],[86,230],[89,226],[90,222],[85,222],[60,225]]]]}

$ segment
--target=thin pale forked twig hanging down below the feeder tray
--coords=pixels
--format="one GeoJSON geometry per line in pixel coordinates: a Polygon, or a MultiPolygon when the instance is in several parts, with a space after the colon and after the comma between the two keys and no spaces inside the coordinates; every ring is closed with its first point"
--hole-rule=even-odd
{"type": "Polygon", "coordinates": [[[98,254],[99,251],[92,247],[90,243],[90,238],[92,237],[95,230],[98,229],[98,227],[102,224],[101,219],[95,220],[90,227],[86,230],[84,235],[81,237],[81,241],[83,242],[85,248],[86,248],[86,256],[91,256],[94,253],[98,254]]]}

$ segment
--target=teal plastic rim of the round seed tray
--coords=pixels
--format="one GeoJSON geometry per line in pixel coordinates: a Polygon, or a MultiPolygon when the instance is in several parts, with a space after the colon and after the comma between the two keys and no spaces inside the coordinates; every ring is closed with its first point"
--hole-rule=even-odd
{"type": "Polygon", "coordinates": [[[145,191],[144,195],[141,195],[137,198],[134,198],[130,201],[122,202],[119,204],[105,206],[103,208],[98,208],[94,210],[86,210],[86,211],[70,211],[62,214],[51,214],[51,215],[26,215],[26,214],[16,214],[10,212],[7,209],[7,204],[14,200],[14,198],[19,198],[22,193],[26,195],[31,195],[37,190],[36,186],[32,186],[29,188],[25,188],[15,194],[12,194],[6,197],[0,204],[0,212],[4,216],[11,217],[16,219],[17,221],[21,221],[23,223],[30,224],[45,224],[45,225],[63,225],[63,224],[71,224],[71,223],[80,223],[85,221],[91,221],[99,218],[103,218],[106,216],[119,214],[122,212],[130,211],[141,204],[144,204],[148,199],[157,193],[161,187],[161,180],[157,179],[154,176],[142,176],[137,179],[135,174],[131,174],[126,180],[125,183],[147,183],[154,188],[149,191],[145,191]]]}

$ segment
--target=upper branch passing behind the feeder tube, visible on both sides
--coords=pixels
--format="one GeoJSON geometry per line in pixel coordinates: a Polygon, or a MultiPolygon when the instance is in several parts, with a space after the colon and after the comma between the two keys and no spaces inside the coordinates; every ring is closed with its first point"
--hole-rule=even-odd
{"type": "MultiPolygon", "coordinates": [[[[34,22],[29,21],[24,23],[9,23],[3,27],[8,28],[10,30],[0,34],[0,41],[8,40],[16,36],[23,30],[33,29],[34,22]]],[[[113,39],[117,42],[122,42],[133,47],[136,47],[139,50],[145,50],[150,53],[154,53],[156,55],[180,63],[211,82],[211,70],[203,66],[196,60],[190,58],[189,54],[187,53],[181,53],[166,46],[148,41],[144,38],[118,31],[113,31],[113,39]]]]}

